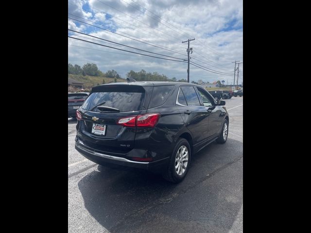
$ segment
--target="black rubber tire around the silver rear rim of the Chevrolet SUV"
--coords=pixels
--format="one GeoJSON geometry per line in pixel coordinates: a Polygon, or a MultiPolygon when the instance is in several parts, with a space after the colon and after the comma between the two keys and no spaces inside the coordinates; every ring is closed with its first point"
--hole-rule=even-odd
{"type": "MultiPolygon", "coordinates": [[[[182,180],[185,179],[185,177],[187,175],[187,172],[188,172],[189,166],[190,166],[190,162],[191,162],[190,144],[185,138],[179,138],[179,140],[177,141],[177,143],[174,147],[173,153],[171,155],[171,160],[170,160],[169,166],[167,167],[167,170],[163,173],[163,178],[169,182],[172,182],[172,183],[181,182],[182,180]],[[178,163],[178,162],[175,162],[175,159],[176,159],[178,150],[182,146],[185,146],[188,150],[188,163],[186,165],[185,171],[181,175],[177,175],[176,169],[178,169],[178,168],[175,168],[175,163],[178,163]]],[[[181,169],[183,169],[183,168],[181,168],[181,169]]]]}

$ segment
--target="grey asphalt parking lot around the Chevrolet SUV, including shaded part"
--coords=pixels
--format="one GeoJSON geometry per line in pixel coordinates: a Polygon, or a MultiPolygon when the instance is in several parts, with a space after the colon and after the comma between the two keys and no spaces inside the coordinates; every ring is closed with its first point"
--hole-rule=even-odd
{"type": "Polygon", "coordinates": [[[192,158],[172,184],[144,171],[103,168],[74,149],[68,119],[69,233],[240,233],[243,231],[243,97],[226,101],[229,134],[192,158]]]}

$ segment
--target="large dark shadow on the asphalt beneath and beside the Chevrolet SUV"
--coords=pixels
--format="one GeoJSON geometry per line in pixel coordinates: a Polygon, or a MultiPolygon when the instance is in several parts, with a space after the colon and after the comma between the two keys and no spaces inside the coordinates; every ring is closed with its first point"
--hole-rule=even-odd
{"type": "Polygon", "coordinates": [[[86,210],[111,233],[228,232],[242,206],[242,153],[242,142],[228,138],[194,155],[182,183],[98,166],[78,187],[86,210]]]}

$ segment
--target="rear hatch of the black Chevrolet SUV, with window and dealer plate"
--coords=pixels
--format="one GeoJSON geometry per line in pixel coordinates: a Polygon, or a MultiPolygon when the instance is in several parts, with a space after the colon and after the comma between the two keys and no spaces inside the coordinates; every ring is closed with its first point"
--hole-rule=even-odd
{"type": "Polygon", "coordinates": [[[134,148],[136,127],[118,124],[121,118],[145,114],[153,86],[109,84],[92,88],[79,109],[78,136],[95,150],[116,153],[134,148]]]}

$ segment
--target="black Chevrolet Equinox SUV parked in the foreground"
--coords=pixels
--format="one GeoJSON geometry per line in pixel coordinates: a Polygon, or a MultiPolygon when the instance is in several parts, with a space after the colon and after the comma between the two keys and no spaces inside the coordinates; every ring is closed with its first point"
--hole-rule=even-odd
{"type": "Polygon", "coordinates": [[[193,154],[227,140],[229,116],[222,105],[192,83],[98,85],[76,112],[75,149],[97,164],[157,171],[177,183],[193,154]]]}

